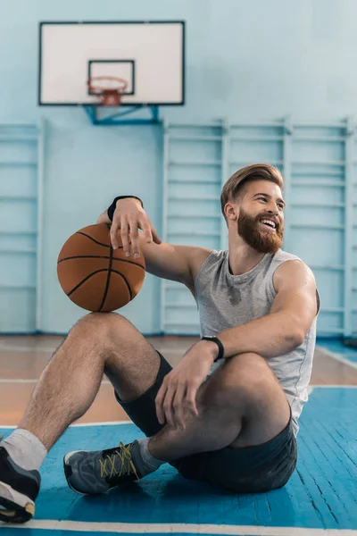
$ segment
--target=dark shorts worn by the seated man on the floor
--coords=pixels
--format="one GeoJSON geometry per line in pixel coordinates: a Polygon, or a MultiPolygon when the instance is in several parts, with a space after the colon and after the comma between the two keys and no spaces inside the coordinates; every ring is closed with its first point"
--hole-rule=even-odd
{"type": "MultiPolygon", "coordinates": [[[[159,352],[158,352],[159,353],[159,352]]],[[[156,417],[155,398],[172,367],[159,353],[161,364],[154,385],[137,400],[121,402],[130,419],[147,437],[162,429],[156,417]]],[[[291,412],[290,412],[291,413],[291,412]]],[[[211,482],[240,493],[259,493],[281,488],[294,473],[297,445],[292,419],[275,438],[247,448],[220,448],[170,462],[186,478],[211,482]]]]}

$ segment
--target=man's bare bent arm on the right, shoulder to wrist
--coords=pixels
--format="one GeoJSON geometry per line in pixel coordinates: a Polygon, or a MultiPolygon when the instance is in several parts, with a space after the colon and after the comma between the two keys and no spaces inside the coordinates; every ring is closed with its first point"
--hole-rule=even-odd
{"type": "MultiPolygon", "coordinates": [[[[313,273],[306,264],[289,261],[278,267],[274,284],[277,296],[270,314],[217,334],[225,357],[248,352],[265,358],[276,357],[303,343],[318,312],[313,273]]],[[[215,343],[202,343],[212,345],[217,355],[215,343]]]]}

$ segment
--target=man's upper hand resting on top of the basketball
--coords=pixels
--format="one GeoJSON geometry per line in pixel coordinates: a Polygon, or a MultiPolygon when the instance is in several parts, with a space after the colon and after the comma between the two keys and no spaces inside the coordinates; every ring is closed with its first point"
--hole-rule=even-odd
{"type": "Polygon", "coordinates": [[[139,229],[144,231],[145,239],[148,244],[153,240],[156,244],[162,243],[156,230],[154,230],[153,223],[150,222],[148,215],[145,213],[144,208],[142,208],[140,202],[134,198],[119,199],[119,201],[117,201],[111,227],[111,242],[113,249],[118,248],[117,232],[119,229],[126,256],[134,255],[134,258],[137,258],[140,255],[139,229]]]}

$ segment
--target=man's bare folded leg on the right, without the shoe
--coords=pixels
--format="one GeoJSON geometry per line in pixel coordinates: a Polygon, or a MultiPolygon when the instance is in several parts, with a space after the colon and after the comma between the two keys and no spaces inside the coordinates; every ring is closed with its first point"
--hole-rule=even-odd
{"type": "Polygon", "coordinates": [[[199,415],[186,429],[165,426],[149,443],[152,456],[174,461],[220,448],[260,445],[282,431],[290,418],[286,395],[261,356],[229,358],[197,395],[199,415]]]}

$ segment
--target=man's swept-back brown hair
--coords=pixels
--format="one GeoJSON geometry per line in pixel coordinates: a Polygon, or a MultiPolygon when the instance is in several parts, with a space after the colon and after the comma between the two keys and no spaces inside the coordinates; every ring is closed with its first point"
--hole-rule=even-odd
{"type": "Polygon", "coordinates": [[[234,201],[239,197],[244,185],[253,180],[270,180],[278,184],[279,188],[284,187],[284,179],[278,169],[269,163],[253,163],[247,165],[241,170],[233,173],[223,186],[220,194],[220,207],[224,218],[224,207],[229,201],[234,201]]]}

